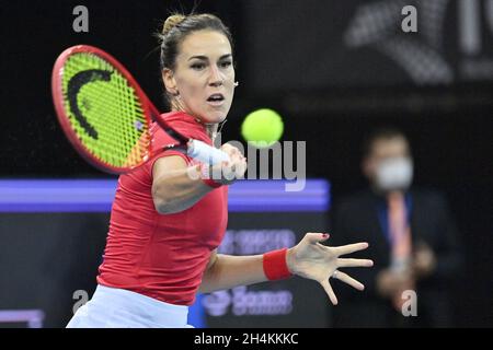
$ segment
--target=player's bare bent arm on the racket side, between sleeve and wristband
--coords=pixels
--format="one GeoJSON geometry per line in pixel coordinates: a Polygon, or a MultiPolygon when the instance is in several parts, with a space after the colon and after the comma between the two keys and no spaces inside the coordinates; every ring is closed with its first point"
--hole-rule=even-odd
{"type": "Polygon", "coordinates": [[[156,210],[161,214],[188,209],[213,188],[200,179],[199,167],[194,165],[169,172],[152,186],[156,210]]]}

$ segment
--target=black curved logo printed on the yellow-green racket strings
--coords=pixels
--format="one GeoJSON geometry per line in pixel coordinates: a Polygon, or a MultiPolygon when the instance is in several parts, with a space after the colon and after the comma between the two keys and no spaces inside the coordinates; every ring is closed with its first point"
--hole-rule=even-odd
{"type": "MultiPolygon", "coordinates": [[[[68,82],[68,101],[70,106],[70,112],[79,121],[80,126],[84,131],[94,140],[98,140],[98,131],[94,127],[89,124],[88,119],[84,117],[78,105],[78,95],[82,86],[92,83],[94,81],[110,81],[112,72],[102,69],[89,69],[78,72],[68,82]]],[[[90,106],[87,106],[90,108],[90,106]]]]}

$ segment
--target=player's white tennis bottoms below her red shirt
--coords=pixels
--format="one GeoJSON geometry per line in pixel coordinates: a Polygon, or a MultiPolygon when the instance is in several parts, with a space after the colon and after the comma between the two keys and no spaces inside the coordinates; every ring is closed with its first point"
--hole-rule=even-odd
{"type": "Polygon", "coordinates": [[[67,328],[188,328],[188,306],[99,284],[67,328]]]}

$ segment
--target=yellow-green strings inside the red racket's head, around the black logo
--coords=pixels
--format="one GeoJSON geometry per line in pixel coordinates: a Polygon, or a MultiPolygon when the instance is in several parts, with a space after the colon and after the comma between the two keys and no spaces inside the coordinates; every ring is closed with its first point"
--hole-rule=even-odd
{"type": "Polygon", "coordinates": [[[70,125],[91,154],[116,167],[133,167],[145,161],[150,147],[149,125],[138,94],[123,74],[96,55],[78,52],[65,63],[62,86],[70,125]],[[94,73],[80,90],[69,91],[71,79],[91,70],[110,72],[110,80],[94,73]],[[98,131],[96,138],[80,122],[73,113],[77,109],[98,131]]]}

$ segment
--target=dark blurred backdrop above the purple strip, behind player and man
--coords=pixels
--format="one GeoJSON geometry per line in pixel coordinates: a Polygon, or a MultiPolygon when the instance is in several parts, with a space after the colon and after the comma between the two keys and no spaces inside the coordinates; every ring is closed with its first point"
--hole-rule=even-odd
{"type": "MultiPolygon", "coordinates": [[[[223,140],[241,140],[250,110],[278,110],[283,140],[307,141],[308,176],[328,178],[337,200],[366,186],[360,145],[370,129],[391,125],[408,135],[414,183],[446,194],[461,233],[467,268],[456,292],[458,326],[493,326],[493,10],[486,2],[465,18],[463,1],[426,1],[417,33],[401,31],[402,16],[392,12],[402,8],[399,0],[204,0],[197,9],[218,14],[236,39],[240,86],[223,140]]],[[[164,0],[2,3],[0,176],[107,177],[58,127],[53,63],[69,46],[99,46],[163,109],[152,34],[170,10],[192,7],[164,0]],[[89,33],[72,30],[79,4],[89,9],[89,33]]]]}

